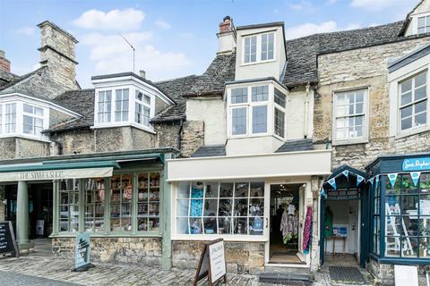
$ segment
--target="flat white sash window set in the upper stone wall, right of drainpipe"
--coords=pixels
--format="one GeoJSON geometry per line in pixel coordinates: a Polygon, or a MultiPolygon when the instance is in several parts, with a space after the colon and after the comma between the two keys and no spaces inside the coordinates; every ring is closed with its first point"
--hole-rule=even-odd
{"type": "Polygon", "coordinates": [[[333,140],[337,143],[366,139],[367,89],[334,93],[333,140]]]}

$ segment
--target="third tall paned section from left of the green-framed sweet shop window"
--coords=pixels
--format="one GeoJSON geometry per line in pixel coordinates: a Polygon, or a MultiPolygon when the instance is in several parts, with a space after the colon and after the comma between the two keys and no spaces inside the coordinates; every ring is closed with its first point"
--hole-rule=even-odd
{"type": "Polygon", "coordinates": [[[113,176],[110,197],[110,231],[132,231],[133,176],[113,176]]]}

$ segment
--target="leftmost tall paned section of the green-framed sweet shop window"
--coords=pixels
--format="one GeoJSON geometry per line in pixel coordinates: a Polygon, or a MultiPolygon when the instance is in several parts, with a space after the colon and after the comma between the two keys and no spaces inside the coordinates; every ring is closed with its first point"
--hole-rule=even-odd
{"type": "Polygon", "coordinates": [[[79,180],[62,180],[59,184],[59,231],[79,231],[79,180]]]}

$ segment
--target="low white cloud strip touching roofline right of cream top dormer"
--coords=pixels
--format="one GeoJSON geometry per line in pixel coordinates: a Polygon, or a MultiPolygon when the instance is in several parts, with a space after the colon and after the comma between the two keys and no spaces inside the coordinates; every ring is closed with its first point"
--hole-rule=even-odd
{"type": "Polygon", "coordinates": [[[338,30],[343,29],[358,29],[360,26],[358,24],[348,24],[348,26],[344,28],[340,28],[338,26],[338,23],[335,21],[324,21],[319,24],[315,23],[305,23],[302,25],[298,25],[296,27],[291,27],[285,30],[285,37],[286,38],[300,38],[309,36],[312,34],[318,34],[318,33],[327,33],[327,32],[334,32],[338,30]]]}

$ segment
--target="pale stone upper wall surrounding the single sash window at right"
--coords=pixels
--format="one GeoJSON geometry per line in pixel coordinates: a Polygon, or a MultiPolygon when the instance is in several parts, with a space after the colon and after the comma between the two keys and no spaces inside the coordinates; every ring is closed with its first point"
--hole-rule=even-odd
{"type": "Polygon", "coordinates": [[[390,103],[387,63],[406,55],[430,38],[410,39],[383,46],[371,46],[341,53],[319,55],[320,86],[314,96],[314,142],[331,144],[333,92],[348,88],[369,88],[368,142],[332,147],[332,167],[349,164],[363,169],[381,154],[422,152],[430,147],[430,132],[403,139],[389,138],[390,103]]]}

